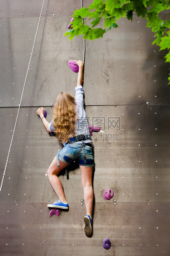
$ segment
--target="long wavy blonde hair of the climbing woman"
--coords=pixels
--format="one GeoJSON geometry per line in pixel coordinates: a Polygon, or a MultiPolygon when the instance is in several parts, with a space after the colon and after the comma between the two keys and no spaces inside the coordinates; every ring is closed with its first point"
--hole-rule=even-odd
{"type": "MultiPolygon", "coordinates": [[[[64,143],[69,140],[70,135],[75,135],[75,98],[67,92],[61,92],[54,106],[54,132],[59,142],[64,143]]],[[[78,120],[78,119],[77,119],[78,120]]]]}

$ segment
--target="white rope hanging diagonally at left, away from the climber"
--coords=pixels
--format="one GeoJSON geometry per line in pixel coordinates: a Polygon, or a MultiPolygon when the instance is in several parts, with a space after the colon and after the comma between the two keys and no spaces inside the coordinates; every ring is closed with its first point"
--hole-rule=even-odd
{"type": "Polygon", "coordinates": [[[12,147],[12,141],[13,141],[13,138],[14,138],[14,133],[15,133],[15,129],[16,129],[16,123],[17,123],[17,121],[18,121],[19,110],[21,109],[21,102],[22,102],[22,98],[23,98],[23,92],[24,92],[24,89],[25,89],[26,80],[27,80],[27,76],[28,76],[28,71],[29,71],[29,68],[30,68],[30,62],[31,62],[32,55],[33,55],[33,50],[34,50],[34,46],[35,46],[35,40],[36,40],[36,38],[37,38],[37,32],[38,32],[38,28],[39,28],[39,25],[40,25],[40,19],[41,19],[41,16],[42,16],[42,10],[43,10],[43,7],[44,7],[44,2],[45,2],[45,0],[43,0],[43,3],[42,3],[42,9],[41,9],[40,18],[39,18],[39,21],[38,21],[37,31],[36,31],[36,33],[35,33],[35,39],[34,39],[34,43],[33,43],[33,49],[32,49],[31,56],[30,56],[30,61],[29,61],[29,64],[28,64],[28,69],[27,69],[27,73],[26,73],[26,79],[25,79],[25,82],[24,82],[24,85],[23,85],[23,91],[22,91],[22,94],[21,94],[21,100],[20,100],[20,103],[19,103],[19,109],[18,109],[18,113],[17,113],[17,116],[16,116],[14,131],[13,131],[13,134],[12,134],[11,144],[10,144],[10,146],[9,146],[9,152],[8,152],[7,161],[6,161],[6,164],[5,164],[5,170],[4,170],[4,173],[3,173],[3,176],[2,176],[2,182],[1,182],[1,186],[0,186],[0,192],[1,192],[1,189],[2,189],[2,184],[3,184],[3,181],[4,181],[4,177],[5,177],[5,172],[6,172],[6,168],[7,168],[8,159],[9,159],[9,153],[10,153],[10,150],[11,150],[11,147],[12,147]]]}

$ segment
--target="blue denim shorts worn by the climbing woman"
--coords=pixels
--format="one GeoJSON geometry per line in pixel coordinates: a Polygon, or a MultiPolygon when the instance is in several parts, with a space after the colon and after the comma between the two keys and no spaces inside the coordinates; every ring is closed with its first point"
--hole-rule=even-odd
{"type": "MultiPolygon", "coordinates": [[[[79,152],[82,143],[69,143],[65,144],[63,149],[58,152],[58,158],[66,163],[69,164],[72,159],[75,159],[77,153],[79,152]],[[61,153],[62,152],[62,153],[61,153]],[[64,155],[64,156],[63,156],[64,155]]],[[[79,160],[79,165],[85,167],[94,166],[94,158],[93,158],[93,151],[92,148],[85,144],[85,155],[86,155],[86,164],[84,164],[84,155],[83,155],[83,148],[79,152],[76,158],[79,160]]]]}

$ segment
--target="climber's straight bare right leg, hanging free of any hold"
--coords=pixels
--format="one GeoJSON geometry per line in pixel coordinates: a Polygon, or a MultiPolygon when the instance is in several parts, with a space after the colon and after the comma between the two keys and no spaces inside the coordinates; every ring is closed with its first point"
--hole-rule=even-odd
{"type": "Polygon", "coordinates": [[[92,217],[93,211],[93,187],[92,187],[92,175],[93,167],[80,166],[82,175],[82,187],[84,190],[84,201],[86,205],[86,214],[92,217]]]}

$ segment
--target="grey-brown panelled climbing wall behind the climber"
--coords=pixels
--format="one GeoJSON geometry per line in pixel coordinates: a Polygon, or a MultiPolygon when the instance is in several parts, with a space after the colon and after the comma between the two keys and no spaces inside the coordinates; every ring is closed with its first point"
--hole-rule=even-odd
{"type": "Polygon", "coordinates": [[[86,114],[103,131],[93,134],[93,236],[84,234],[79,168],[69,179],[60,176],[69,212],[49,217],[47,204],[57,198],[45,173],[62,145],[36,110],[43,106],[51,121],[58,93],[74,96],[77,74],[67,62],[83,58],[84,44],[81,36],[71,42],[63,36],[81,1],[45,0],[28,69],[42,3],[0,3],[0,255],[169,256],[169,66],[136,15],[133,22],[120,19],[103,39],[86,41],[86,114]],[[110,201],[102,196],[105,188],[114,190],[110,201]],[[108,251],[102,247],[106,237],[108,251]]]}

